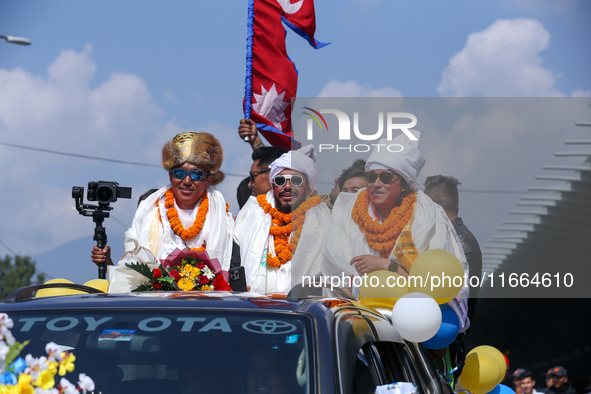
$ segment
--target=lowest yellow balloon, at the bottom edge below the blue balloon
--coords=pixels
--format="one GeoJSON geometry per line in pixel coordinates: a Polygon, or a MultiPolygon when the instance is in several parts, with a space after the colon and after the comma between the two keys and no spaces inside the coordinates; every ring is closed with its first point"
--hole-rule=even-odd
{"type": "Polygon", "coordinates": [[[485,394],[499,384],[501,366],[487,352],[474,352],[466,356],[460,375],[462,385],[473,394],[485,394]]]}

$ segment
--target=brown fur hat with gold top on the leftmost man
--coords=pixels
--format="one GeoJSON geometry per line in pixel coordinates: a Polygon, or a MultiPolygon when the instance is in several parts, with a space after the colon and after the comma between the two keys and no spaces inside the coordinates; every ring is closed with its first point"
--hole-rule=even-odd
{"type": "Polygon", "coordinates": [[[213,175],[212,185],[217,185],[226,176],[219,171],[223,160],[222,144],[213,135],[204,132],[177,134],[162,148],[162,167],[165,170],[191,163],[207,169],[213,175]]]}

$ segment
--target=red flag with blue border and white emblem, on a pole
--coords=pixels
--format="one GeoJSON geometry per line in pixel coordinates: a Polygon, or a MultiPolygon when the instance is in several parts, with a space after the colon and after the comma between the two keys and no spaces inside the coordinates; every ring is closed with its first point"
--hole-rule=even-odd
{"type": "Polygon", "coordinates": [[[246,55],[244,117],[273,146],[299,147],[291,128],[291,103],[296,97],[298,72],[287,55],[285,26],[319,49],[313,0],[250,0],[246,55]]]}

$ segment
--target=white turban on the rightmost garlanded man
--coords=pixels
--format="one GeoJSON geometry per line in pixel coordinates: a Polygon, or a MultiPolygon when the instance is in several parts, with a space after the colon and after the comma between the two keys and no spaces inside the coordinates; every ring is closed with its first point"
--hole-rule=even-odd
{"type": "Polygon", "coordinates": [[[418,186],[417,178],[425,165],[425,157],[418,148],[421,133],[413,130],[413,135],[417,137],[416,141],[411,140],[404,133],[391,141],[382,138],[373,152],[371,152],[371,155],[369,155],[365,164],[365,171],[394,171],[401,175],[413,190],[416,190],[418,186]],[[392,147],[391,150],[394,152],[388,151],[388,146],[393,144],[402,146],[402,151],[396,152],[400,150],[400,146],[392,147]]]}

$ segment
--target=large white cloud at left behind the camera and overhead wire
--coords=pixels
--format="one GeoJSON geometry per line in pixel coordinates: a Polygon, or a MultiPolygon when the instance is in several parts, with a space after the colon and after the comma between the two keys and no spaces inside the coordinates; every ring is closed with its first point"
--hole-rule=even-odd
{"type": "MultiPolygon", "coordinates": [[[[0,141],[125,161],[159,163],[163,141],[180,129],[136,75],[113,73],[93,87],[92,47],[63,50],[45,76],[0,69],[0,141]]],[[[17,253],[38,253],[87,234],[91,219],[73,212],[71,188],[93,180],[158,186],[161,170],[51,155],[0,145],[0,239],[17,253]]],[[[146,189],[147,190],[147,189],[146,189]]],[[[134,198],[145,190],[135,190],[134,198]]],[[[131,222],[135,201],[114,204],[131,222]]],[[[111,226],[113,224],[110,224],[111,226]]],[[[109,225],[107,226],[109,227],[109,225]]]]}

